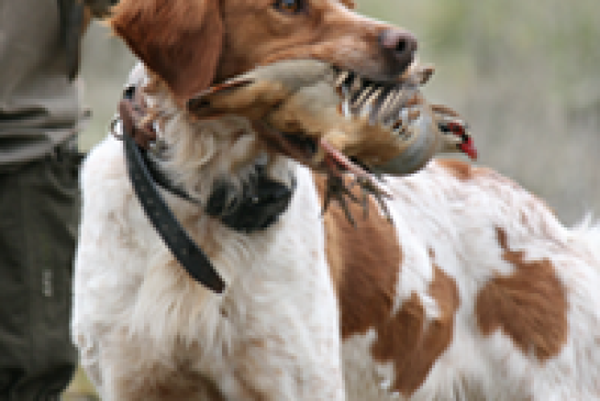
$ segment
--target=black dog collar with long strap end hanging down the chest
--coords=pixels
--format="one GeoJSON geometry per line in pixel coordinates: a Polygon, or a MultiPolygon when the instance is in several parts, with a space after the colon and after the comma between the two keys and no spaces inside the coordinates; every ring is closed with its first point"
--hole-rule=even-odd
{"type": "MultiPolygon", "coordinates": [[[[188,201],[199,203],[174,186],[148,159],[144,145],[152,143],[153,135],[155,140],[156,134],[148,126],[138,125],[145,115],[145,108],[136,98],[136,88],[130,87],[119,103],[124,154],[134,192],[154,229],[188,274],[207,288],[221,293],[225,287],[224,281],[208,256],[187,235],[160,196],[158,186],[188,201]]],[[[264,166],[257,165],[256,175],[244,186],[242,197],[235,200],[233,207],[226,204],[231,188],[223,181],[213,189],[204,211],[233,230],[252,233],[267,229],[278,220],[288,208],[295,187],[293,183],[290,189],[270,179],[264,166]]]]}

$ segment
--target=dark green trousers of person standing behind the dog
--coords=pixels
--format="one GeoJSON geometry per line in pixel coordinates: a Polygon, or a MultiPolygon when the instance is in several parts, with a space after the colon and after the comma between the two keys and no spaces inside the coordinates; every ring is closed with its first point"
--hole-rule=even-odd
{"type": "Polygon", "coordinates": [[[56,400],[77,366],[69,335],[79,157],[0,168],[0,401],[56,400]]]}

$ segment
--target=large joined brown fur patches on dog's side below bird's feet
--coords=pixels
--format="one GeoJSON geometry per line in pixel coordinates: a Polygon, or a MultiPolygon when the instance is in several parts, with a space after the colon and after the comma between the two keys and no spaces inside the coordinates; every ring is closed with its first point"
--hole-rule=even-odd
{"type": "MultiPolygon", "coordinates": [[[[323,178],[315,176],[315,182],[322,194],[323,178]]],[[[458,289],[454,279],[434,265],[429,294],[440,308],[438,319],[425,321],[416,293],[392,315],[402,252],[393,226],[374,212],[374,204],[370,208],[369,219],[362,220],[360,208],[352,205],[358,222],[356,229],[336,205],[330,207],[324,216],[327,261],[340,299],[342,337],[374,328],[377,339],[371,347],[373,357],[393,363],[392,389],[410,396],[425,381],[433,364],[452,342],[458,289]]],[[[433,252],[430,255],[433,257],[433,252]]]]}

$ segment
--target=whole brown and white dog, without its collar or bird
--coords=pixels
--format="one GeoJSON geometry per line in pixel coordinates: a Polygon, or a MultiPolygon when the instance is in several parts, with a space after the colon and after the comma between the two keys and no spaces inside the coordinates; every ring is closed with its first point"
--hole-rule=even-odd
{"type": "MultiPolygon", "coordinates": [[[[193,281],[133,194],[108,137],[82,172],[73,335],[104,400],[598,400],[600,230],[564,227],[492,170],[433,161],[388,179],[393,224],[321,216],[323,180],[268,153],[242,118],[182,104],[288,58],[371,79],[412,60],[407,32],[348,0],[122,0],[111,24],[145,67],[132,83],[166,143],[162,168],[205,200],[251,180],[290,185],[279,221],[232,231],[165,194],[227,288],[193,281]]],[[[362,216],[362,212],[355,213],[362,216]]]]}

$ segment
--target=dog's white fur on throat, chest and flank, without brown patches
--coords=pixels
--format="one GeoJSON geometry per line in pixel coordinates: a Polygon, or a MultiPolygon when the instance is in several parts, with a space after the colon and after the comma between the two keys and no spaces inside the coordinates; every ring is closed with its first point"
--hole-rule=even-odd
{"type": "MultiPolygon", "coordinates": [[[[254,146],[251,130],[231,143],[244,121],[192,123],[167,98],[151,101],[165,111],[165,166],[188,191],[207,199],[218,178],[251,179],[248,169],[230,169],[254,146]]],[[[122,144],[108,137],[91,152],[81,177],[73,336],[104,400],[205,400],[207,383],[229,400],[403,399],[390,389],[393,365],[370,356],[375,331],[341,342],[311,174],[271,161],[271,175],[286,180],[293,171],[298,188],[264,232],[235,233],[165,193],[225,278],[227,289],[216,296],[187,277],[149,225],[122,144]],[[160,390],[169,386],[173,392],[160,390]]],[[[600,400],[600,229],[562,226],[538,200],[493,174],[467,182],[432,163],[388,185],[403,252],[393,313],[415,292],[426,319],[438,316],[426,293],[430,249],[460,296],[453,342],[411,400],[600,400]],[[486,337],[477,330],[478,290],[514,269],[501,257],[496,227],[527,259],[549,258],[566,287],[567,344],[547,361],[524,355],[502,332],[486,337]]]]}

